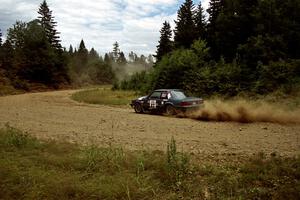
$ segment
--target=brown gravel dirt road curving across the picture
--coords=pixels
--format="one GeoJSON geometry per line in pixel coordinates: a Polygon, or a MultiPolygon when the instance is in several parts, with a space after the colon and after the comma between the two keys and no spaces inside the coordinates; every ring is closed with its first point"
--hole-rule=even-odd
{"type": "Polygon", "coordinates": [[[0,97],[0,126],[9,123],[42,139],[113,144],[133,150],[165,150],[173,136],[179,149],[195,154],[300,153],[300,124],[202,122],[140,115],[130,108],[77,103],[70,99],[73,92],[0,97]]]}

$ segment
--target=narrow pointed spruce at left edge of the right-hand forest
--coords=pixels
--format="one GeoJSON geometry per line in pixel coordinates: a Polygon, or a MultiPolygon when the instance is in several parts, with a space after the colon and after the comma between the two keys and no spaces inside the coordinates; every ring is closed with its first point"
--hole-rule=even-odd
{"type": "Polygon", "coordinates": [[[163,27],[160,30],[160,40],[158,42],[156,59],[160,61],[162,57],[172,51],[173,43],[171,41],[172,30],[169,22],[165,21],[163,27]]]}

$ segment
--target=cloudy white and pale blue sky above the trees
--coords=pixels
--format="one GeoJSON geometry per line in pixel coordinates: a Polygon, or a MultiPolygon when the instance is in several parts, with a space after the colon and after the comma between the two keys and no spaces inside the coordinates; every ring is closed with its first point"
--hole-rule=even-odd
{"type": "MultiPolygon", "coordinates": [[[[194,0],[198,5],[200,0],[194,0]]],[[[201,0],[206,9],[209,0],[201,0]]],[[[38,17],[42,0],[0,0],[0,29],[17,20],[29,22],[38,17]]],[[[112,51],[114,42],[126,54],[155,54],[164,21],[174,28],[177,11],[184,0],[47,0],[62,45],[77,48],[83,39],[88,49],[100,54],[112,51]]]]}

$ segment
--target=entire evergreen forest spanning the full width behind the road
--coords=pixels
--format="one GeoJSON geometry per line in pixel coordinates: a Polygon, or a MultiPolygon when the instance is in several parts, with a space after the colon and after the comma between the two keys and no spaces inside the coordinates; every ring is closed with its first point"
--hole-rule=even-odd
{"type": "Polygon", "coordinates": [[[175,27],[162,24],[155,55],[125,55],[115,42],[102,56],[83,39],[78,47],[62,47],[44,0],[39,17],[17,21],[5,41],[0,30],[0,87],[113,84],[143,93],[179,88],[199,96],[293,94],[300,88],[299,10],[300,0],[210,0],[207,10],[185,0],[175,27]]]}

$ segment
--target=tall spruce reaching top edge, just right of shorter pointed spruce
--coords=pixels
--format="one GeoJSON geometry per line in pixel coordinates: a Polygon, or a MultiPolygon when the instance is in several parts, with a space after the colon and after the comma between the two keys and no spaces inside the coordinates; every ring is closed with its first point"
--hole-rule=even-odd
{"type": "Polygon", "coordinates": [[[177,13],[174,42],[176,48],[190,48],[197,39],[196,25],[194,22],[195,11],[192,0],[186,0],[177,13]]]}

